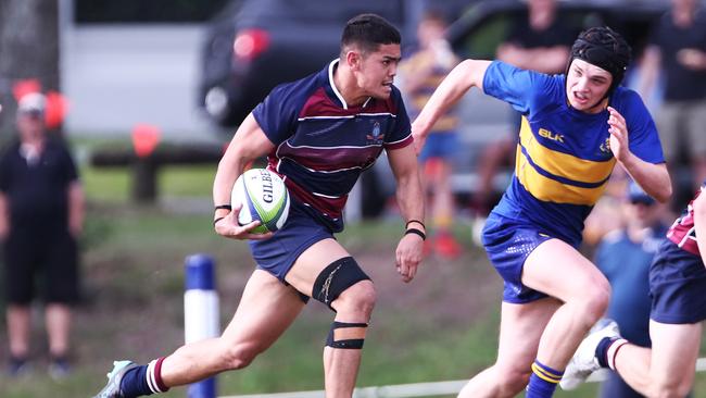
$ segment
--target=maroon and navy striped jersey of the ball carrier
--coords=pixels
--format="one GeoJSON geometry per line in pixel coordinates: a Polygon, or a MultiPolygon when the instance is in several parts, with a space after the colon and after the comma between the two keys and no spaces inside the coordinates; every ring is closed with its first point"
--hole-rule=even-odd
{"type": "Polygon", "coordinates": [[[361,173],[383,149],[413,141],[395,87],[387,100],[346,104],[333,85],[337,66],[335,60],[316,74],[275,87],[253,110],[275,145],[267,167],[333,232],[343,229],[343,206],[361,173]]]}

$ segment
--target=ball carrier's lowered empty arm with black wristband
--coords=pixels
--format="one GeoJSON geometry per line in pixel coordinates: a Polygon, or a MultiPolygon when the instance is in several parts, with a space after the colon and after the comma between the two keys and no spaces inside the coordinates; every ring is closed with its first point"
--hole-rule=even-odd
{"type": "MultiPolygon", "coordinates": [[[[424,195],[413,147],[390,150],[388,159],[398,182],[396,198],[402,216],[405,222],[416,220],[409,227],[426,234],[424,224],[419,223],[424,222],[424,195]]],[[[395,262],[402,281],[409,282],[416,275],[417,266],[421,262],[423,245],[424,240],[417,234],[405,234],[400,240],[395,262]]]]}

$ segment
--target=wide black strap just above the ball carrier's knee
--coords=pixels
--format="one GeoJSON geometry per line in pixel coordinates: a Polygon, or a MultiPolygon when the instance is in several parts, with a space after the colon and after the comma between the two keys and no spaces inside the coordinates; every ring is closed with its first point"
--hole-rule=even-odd
{"type": "MultiPolygon", "coordinates": [[[[369,281],[370,277],[361,270],[352,257],[344,257],[330,263],[314,282],[312,297],[331,310],[331,302],[336,300],[343,290],[361,281],[369,281]]],[[[333,310],[336,311],[336,310],[333,310]]]]}

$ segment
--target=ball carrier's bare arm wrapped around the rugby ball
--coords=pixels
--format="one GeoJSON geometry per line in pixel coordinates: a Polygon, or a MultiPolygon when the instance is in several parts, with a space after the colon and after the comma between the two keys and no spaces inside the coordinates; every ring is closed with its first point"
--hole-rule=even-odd
{"type": "MultiPolygon", "coordinates": [[[[252,113],[249,114],[236,130],[226,153],[218,162],[218,170],[213,182],[214,207],[230,204],[230,194],[238,176],[253,160],[265,156],[274,148],[275,145],[267,138],[255,117],[252,113]]],[[[272,235],[250,234],[250,231],[257,226],[259,222],[239,226],[236,222],[239,210],[215,210],[214,220],[220,220],[214,222],[214,228],[219,235],[235,239],[265,239],[272,235]]]]}

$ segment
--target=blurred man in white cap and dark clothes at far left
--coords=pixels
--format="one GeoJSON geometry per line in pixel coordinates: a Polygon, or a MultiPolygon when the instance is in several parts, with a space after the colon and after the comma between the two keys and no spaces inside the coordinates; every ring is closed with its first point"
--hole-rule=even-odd
{"type": "Polygon", "coordinates": [[[45,130],[46,99],[25,95],[17,108],[18,139],[0,157],[0,241],[10,339],[9,372],[26,369],[30,303],[41,296],[51,357],[50,374],[68,372],[71,307],[78,299],[76,237],[84,213],[83,188],[70,152],[45,130]]]}

